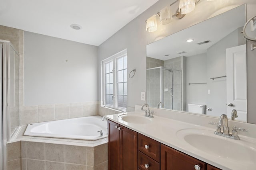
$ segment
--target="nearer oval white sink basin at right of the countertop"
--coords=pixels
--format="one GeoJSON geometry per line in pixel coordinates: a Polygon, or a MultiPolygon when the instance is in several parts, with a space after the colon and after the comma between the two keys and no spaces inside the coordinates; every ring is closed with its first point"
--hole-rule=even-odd
{"type": "Polygon", "coordinates": [[[248,163],[256,160],[256,145],[250,141],[220,137],[203,129],[182,129],[176,135],[192,147],[219,158],[248,163]]]}

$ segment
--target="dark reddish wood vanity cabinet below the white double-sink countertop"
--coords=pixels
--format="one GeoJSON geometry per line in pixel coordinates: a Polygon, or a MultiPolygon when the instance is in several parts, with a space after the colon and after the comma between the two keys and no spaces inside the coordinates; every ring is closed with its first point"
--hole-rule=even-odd
{"type": "Polygon", "coordinates": [[[220,170],[108,120],[108,170],[220,170]]]}

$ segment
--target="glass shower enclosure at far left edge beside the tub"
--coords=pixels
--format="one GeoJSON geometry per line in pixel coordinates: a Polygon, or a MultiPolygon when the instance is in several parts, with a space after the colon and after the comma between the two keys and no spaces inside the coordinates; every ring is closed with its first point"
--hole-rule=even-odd
{"type": "Polygon", "coordinates": [[[19,126],[19,54],[10,41],[0,40],[0,63],[0,169],[6,170],[6,143],[19,126]]]}

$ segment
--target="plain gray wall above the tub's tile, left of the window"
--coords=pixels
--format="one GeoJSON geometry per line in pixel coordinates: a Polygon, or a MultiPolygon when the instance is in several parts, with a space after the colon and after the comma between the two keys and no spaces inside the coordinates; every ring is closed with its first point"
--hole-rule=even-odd
{"type": "Polygon", "coordinates": [[[97,101],[98,47],[24,32],[24,105],[97,101]]]}

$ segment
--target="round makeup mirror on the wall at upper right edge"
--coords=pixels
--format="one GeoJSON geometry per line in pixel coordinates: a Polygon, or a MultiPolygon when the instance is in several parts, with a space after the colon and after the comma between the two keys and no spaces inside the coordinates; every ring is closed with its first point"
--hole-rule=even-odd
{"type": "Polygon", "coordinates": [[[247,40],[256,41],[256,16],[246,22],[243,28],[243,35],[247,40]]]}

